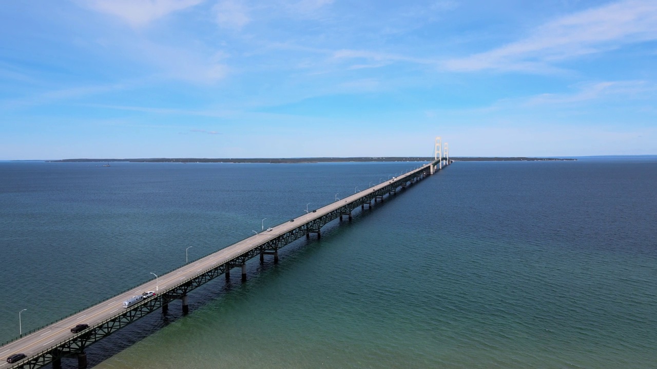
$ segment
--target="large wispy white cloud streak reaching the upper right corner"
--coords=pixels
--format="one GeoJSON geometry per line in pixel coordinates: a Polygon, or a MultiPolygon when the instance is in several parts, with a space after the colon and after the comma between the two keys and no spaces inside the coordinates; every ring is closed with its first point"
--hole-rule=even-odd
{"type": "Polygon", "coordinates": [[[551,64],[657,39],[657,2],[627,0],[571,14],[535,28],[528,37],[466,58],[447,60],[455,71],[554,71],[551,64]]]}

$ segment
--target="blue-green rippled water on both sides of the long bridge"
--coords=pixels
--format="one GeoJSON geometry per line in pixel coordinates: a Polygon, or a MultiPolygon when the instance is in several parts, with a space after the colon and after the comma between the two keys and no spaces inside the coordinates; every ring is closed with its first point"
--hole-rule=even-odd
{"type": "MultiPolygon", "coordinates": [[[[24,306],[23,328],[36,328],[180,265],[187,246],[209,253],[262,218],[280,223],[411,166],[0,163],[0,246],[19,259],[0,271],[11,296],[0,337],[15,336],[24,306]]],[[[166,320],[152,314],[92,346],[89,360],[655,368],[654,183],[656,158],[457,162],[331,223],[321,241],[288,246],[278,265],[251,263],[246,284],[217,278],[190,296],[190,315],[173,304],[166,320]]]]}

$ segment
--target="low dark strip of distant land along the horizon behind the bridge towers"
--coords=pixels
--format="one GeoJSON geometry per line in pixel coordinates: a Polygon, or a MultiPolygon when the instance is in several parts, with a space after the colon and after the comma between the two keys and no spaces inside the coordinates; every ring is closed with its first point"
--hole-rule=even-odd
{"type": "MultiPolygon", "coordinates": [[[[430,162],[430,157],[354,157],[354,158],[143,158],[143,159],[62,159],[46,160],[47,163],[343,163],[343,162],[430,162]]],[[[526,158],[526,157],[463,157],[449,158],[452,162],[537,162],[537,161],[570,161],[574,158],[526,158]]]]}

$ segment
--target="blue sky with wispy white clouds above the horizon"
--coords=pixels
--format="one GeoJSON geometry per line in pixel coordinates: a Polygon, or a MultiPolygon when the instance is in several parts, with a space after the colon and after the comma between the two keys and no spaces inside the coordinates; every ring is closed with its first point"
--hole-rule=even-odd
{"type": "Polygon", "coordinates": [[[0,7],[0,160],[657,154],[657,1],[0,7]]]}

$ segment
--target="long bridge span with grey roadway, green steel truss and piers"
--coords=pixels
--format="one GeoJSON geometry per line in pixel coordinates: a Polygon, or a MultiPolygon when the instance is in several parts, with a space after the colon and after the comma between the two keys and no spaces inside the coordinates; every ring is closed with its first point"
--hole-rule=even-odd
{"type": "Polygon", "coordinates": [[[225,273],[229,277],[230,270],[233,267],[242,266],[242,278],[245,278],[244,263],[246,263],[246,260],[258,254],[260,254],[261,261],[264,254],[275,254],[277,259],[279,248],[304,235],[308,237],[309,233],[316,233],[317,236],[321,236],[319,233],[321,226],[338,216],[340,219],[342,219],[342,215],[348,215],[351,218],[351,211],[355,207],[364,207],[367,204],[371,206],[372,200],[374,202],[378,198],[382,200],[384,194],[396,193],[399,186],[406,186],[409,182],[412,183],[426,177],[426,175],[434,172],[431,165],[434,165],[434,169],[438,169],[438,162],[436,160],[422,165],[422,167],[409,171],[393,180],[384,181],[379,185],[357,192],[311,213],[296,217],[294,221],[277,225],[271,231],[260,232],[260,234],[246,238],[174,271],[163,274],[156,280],[141,284],[75,315],[68,316],[32,334],[3,345],[0,347],[0,369],[40,368],[51,362],[53,368],[57,369],[61,366],[61,358],[74,357],[75,355],[78,357],[79,367],[85,367],[86,355],[84,349],[91,343],[108,336],[119,328],[123,328],[130,322],[160,307],[162,307],[163,313],[166,313],[168,303],[175,299],[183,300],[183,313],[187,313],[187,292],[220,274],[225,273]],[[143,302],[128,309],[122,307],[123,301],[130,297],[141,295],[142,292],[156,290],[158,290],[158,294],[154,297],[148,297],[143,302]],[[72,334],[70,329],[81,323],[89,324],[89,328],[78,334],[72,334]],[[15,353],[24,353],[27,357],[15,364],[7,363],[6,358],[15,353]]]}

